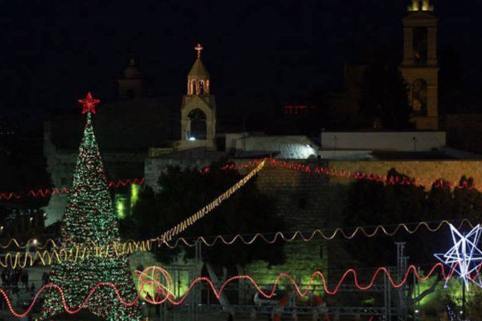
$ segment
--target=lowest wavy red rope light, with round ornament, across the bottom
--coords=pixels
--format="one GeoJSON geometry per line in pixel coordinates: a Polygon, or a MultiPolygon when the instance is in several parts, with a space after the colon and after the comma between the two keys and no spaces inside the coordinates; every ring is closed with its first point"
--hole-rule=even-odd
{"type": "MultiPolygon", "coordinates": [[[[141,294],[141,291],[142,289],[145,287],[145,286],[152,286],[152,285],[156,285],[157,288],[156,288],[156,292],[159,293],[159,294],[162,294],[164,297],[161,299],[161,300],[156,300],[156,299],[153,299],[153,300],[149,300],[150,303],[153,303],[153,304],[161,304],[161,303],[164,303],[165,301],[169,301],[170,303],[172,303],[173,305],[181,305],[187,298],[187,296],[189,295],[189,293],[191,292],[192,288],[197,284],[197,283],[201,283],[201,282],[205,282],[207,283],[207,285],[211,288],[211,290],[213,291],[214,295],[219,298],[222,294],[222,292],[224,291],[224,289],[226,288],[226,286],[233,282],[233,281],[238,281],[238,280],[248,280],[252,285],[253,287],[260,293],[261,296],[265,297],[265,298],[272,298],[274,295],[275,295],[275,292],[276,292],[276,288],[279,286],[279,283],[280,283],[280,280],[282,278],[285,278],[289,281],[289,283],[291,283],[293,286],[294,286],[294,290],[296,291],[297,295],[299,296],[306,296],[308,294],[308,292],[311,290],[312,288],[312,282],[313,280],[315,279],[315,277],[319,277],[321,279],[321,282],[323,284],[323,289],[324,291],[328,294],[328,295],[335,295],[339,290],[340,290],[340,287],[341,285],[343,284],[344,280],[349,277],[350,275],[353,276],[353,282],[354,282],[354,285],[361,291],[365,291],[365,290],[369,290],[375,283],[375,280],[377,279],[377,277],[382,274],[382,275],[385,275],[387,276],[388,280],[389,280],[389,283],[391,284],[392,287],[394,288],[400,288],[401,286],[403,286],[408,280],[409,280],[409,276],[410,276],[410,273],[413,273],[413,275],[420,281],[426,281],[428,278],[430,278],[432,276],[432,274],[435,273],[435,270],[437,268],[440,268],[441,270],[441,274],[442,274],[442,277],[447,280],[447,279],[451,279],[453,277],[453,274],[454,274],[454,270],[452,269],[450,271],[450,273],[447,275],[445,273],[445,270],[444,270],[444,265],[442,263],[436,263],[431,269],[430,271],[428,272],[428,274],[426,276],[421,276],[418,272],[417,272],[417,268],[414,266],[414,265],[410,265],[407,267],[407,270],[404,274],[404,277],[402,278],[402,280],[399,282],[399,283],[396,283],[393,279],[393,277],[391,276],[390,272],[385,268],[385,267],[379,267],[372,275],[372,277],[370,278],[370,281],[366,284],[366,285],[360,285],[359,281],[358,281],[358,275],[356,273],[356,271],[354,269],[348,269],[345,271],[345,273],[341,276],[341,278],[339,279],[338,283],[335,285],[335,287],[333,289],[328,289],[327,287],[327,281],[326,281],[326,278],[325,276],[323,275],[322,272],[320,271],[315,271],[311,277],[310,277],[310,280],[308,282],[308,285],[306,287],[305,290],[301,290],[300,286],[296,283],[296,281],[294,280],[294,278],[287,274],[287,273],[280,273],[276,279],[275,279],[275,282],[274,282],[274,285],[271,289],[271,291],[263,291],[263,289],[260,287],[260,285],[258,285],[252,277],[250,277],[249,275],[237,275],[237,276],[233,276],[233,277],[230,277],[229,279],[227,279],[222,285],[221,287],[219,288],[219,290],[216,289],[216,287],[214,286],[213,282],[208,279],[207,277],[197,277],[196,279],[194,279],[191,284],[189,285],[187,291],[179,298],[176,300],[175,296],[171,294],[171,291],[170,291],[170,284],[168,284],[167,286],[165,285],[161,285],[159,283],[158,280],[153,280],[153,277],[152,275],[149,275],[149,271],[150,269],[153,269],[153,270],[157,270],[159,271],[160,273],[162,273],[164,276],[167,276],[168,278],[170,278],[169,276],[169,273],[167,273],[165,270],[163,270],[162,268],[160,267],[156,267],[156,266],[151,266],[151,267],[148,267],[146,268],[144,271],[136,271],[136,275],[140,277],[140,279],[142,279],[140,285],[140,290],[138,291],[138,294],[137,294],[137,297],[132,300],[131,302],[128,302],[128,301],[125,301],[121,294],[119,293],[119,291],[117,290],[117,287],[113,284],[113,283],[110,283],[110,282],[102,282],[102,283],[97,283],[93,288],[92,290],[90,290],[89,294],[87,295],[87,297],[85,298],[85,300],[77,307],[77,308],[70,308],[67,306],[67,302],[65,300],[65,294],[62,290],[62,288],[56,284],[47,284],[47,285],[44,285],[42,286],[38,291],[37,291],[37,294],[34,296],[33,300],[32,300],[32,303],[30,304],[30,306],[25,310],[25,312],[23,313],[18,313],[16,312],[13,307],[12,307],[12,303],[9,299],[9,297],[7,296],[7,293],[2,289],[0,288],[0,295],[3,296],[3,298],[5,299],[6,303],[7,303],[7,307],[9,308],[10,312],[16,316],[16,317],[23,317],[23,316],[26,316],[28,313],[30,313],[30,311],[32,310],[32,308],[34,307],[36,301],[38,300],[40,294],[46,290],[46,289],[56,289],[57,291],[59,291],[59,294],[62,298],[62,305],[63,305],[63,308],[65,310],[65,312],[69,313],[69,314],[75,314],[75,313],[78,313],[80,310],[82,310],[84,308],[84,306],[87,304],[87,302],[89,301],[89,299],[92,297],[92,295],[94,294],[94,292],[100,288],[100,287],[109,287],[111,288],[114,293],[115,293],[115,296],[117,297],[117,299],[119,301],[121,301],[121,303],[123,305],[126,305],[126,306],[131,306],[131,305],[134,305],[137,300],[139,300],[140,298],[140,294],[141,294]]],[[[478,271],[480,272],[480,271],[478,271]]],[[[171,279],[172,281],[172,279],[171,279]]]]}

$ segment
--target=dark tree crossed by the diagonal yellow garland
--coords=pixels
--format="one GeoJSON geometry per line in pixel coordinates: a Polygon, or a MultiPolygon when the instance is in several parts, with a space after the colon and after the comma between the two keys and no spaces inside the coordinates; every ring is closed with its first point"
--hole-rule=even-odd
{"type": "MultiPolygon", "coordinates": [[[[134,207],[137,235],[143,238],[158,236],[242,178],[235,170],[222,170],[220,163],[212,164],[209,169],[200,172],[197,169],[168,167],[159,178],[160,192],[154,193],[152,189],[145,188],[134,207]]],[[[250,180],[229,200],[180,236],[193,239],[279,230],[283,230],[283,222],[274,215],[272,200],[260,193],[255,181],[250,180]]],[[[193,254],[191,249],[186,250],[188,256],[193,254]]],[[[169,262],[178,251],[168,251],[164,247],[156,254],[158,259],[169,262]]],[[[264,259],[272,264],[284,261],[282,243],[273,246],[261,241],[252,246],[241,242],[225,246],[218,242],[213,247],[203,247],[202,255],[205,262],[221,266],[243,266],[254,259],[264,259]]]]}

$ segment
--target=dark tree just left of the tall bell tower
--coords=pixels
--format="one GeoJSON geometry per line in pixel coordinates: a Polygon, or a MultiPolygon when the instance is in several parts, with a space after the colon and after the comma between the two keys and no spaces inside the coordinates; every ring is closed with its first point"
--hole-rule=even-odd
{"type": "Polygon", "coordinates": [[[377,60],[368,64],[363,73],[360,111],[367,125],[378,121],[386,129],[409,129],[412,108],[408,100],[408,84],[397,64],[377,60]]]}

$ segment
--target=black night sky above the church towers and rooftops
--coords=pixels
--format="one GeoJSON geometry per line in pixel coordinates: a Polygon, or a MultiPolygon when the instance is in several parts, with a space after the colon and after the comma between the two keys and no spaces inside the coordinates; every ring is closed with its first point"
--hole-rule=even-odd
{"type": "MultiPolygon", "coordinates": [[[[180,96],[198,42],[218,96],[276,96],[296,103],[313,90],[339,88],[343,61],[356,61],[367,48],[401,47],[409,1],[1,3],[0,115],[26,116],[74,108],[88,90],[111,100],[114,79],[131,52],[157,94],[180,96]]],[[[434,4],[439,50],[451,46],[462,57],[463,83],[476,91],[482,1],[434,4]]]]}

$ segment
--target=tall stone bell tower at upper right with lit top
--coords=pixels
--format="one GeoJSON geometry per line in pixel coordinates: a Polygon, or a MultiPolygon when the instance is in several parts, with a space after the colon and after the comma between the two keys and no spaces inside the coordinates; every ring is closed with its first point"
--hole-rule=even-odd
{"type": "Polygon", "coordinates": [[[412,121],[420,130],[438,129],[437,17],[429,0],[412,0],[403,21],[400,71],[409,84],[412,121]]]}

